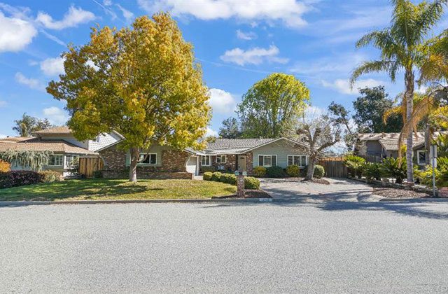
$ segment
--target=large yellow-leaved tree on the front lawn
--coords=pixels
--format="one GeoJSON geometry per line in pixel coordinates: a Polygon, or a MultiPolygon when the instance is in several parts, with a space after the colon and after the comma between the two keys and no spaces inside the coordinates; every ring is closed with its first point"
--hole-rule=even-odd
{"type": "Polygon", "coordinates": [[[209,92],[193,46],[167,13],[120,30],[93,28],[89,43],[70,45],[62,56],[65,73],[47,92],[66,101],[77,139],[112,130],[125,137],[130,181],[137,181],[139,152],[151,144],[203,147],[209,92]]]}

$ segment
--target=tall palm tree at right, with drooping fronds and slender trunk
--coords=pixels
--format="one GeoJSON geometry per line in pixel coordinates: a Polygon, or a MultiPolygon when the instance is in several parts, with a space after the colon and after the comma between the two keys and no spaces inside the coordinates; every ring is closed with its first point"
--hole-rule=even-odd
{"type": "MultiPolygon", "coordinates": [[[[356,47],[374,45],[381,50],[381,58],[363,62],[351,76],[351,85],[364,73],[386,71],[393,82],[398,71],[405,72],[405,92],[402,105],[406,108],[406,120],[410,120],[413,110],[415,70],[420,71],[425,60],[426,37],[443,14],[443,6],[448,0],[423,1],[414,5],[409,0],[392,0],[393,14],[391,27],[366,34],[356,43],[356,47]]],[[[414,183],[412,165],[412,132],[407,136],[407,183],[414,183]]]]}

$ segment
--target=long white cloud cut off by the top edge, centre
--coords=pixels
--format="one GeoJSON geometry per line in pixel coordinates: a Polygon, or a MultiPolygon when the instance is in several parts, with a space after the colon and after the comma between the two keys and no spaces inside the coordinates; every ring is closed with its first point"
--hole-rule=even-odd
{"type": "Polygon", "coordinates": [[[311,6],[296,0],[138,0],[138,3],[148,13],[162,10],[169,11],[176,17],[191,16],[200,20],[236,18],[248,22],[280,21],[287,27],[294,28],[307,25],[302,15],[311,10],[311,6]]]}

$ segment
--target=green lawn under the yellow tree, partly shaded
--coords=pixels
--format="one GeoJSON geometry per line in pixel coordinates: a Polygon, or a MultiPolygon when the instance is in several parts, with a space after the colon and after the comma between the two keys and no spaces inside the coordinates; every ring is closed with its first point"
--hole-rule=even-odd
{"type": "Polygon", "coordinates": [[[214,181],[80,179],[0,189],[0,201],[199,199],[236,193],[214,181]]]}

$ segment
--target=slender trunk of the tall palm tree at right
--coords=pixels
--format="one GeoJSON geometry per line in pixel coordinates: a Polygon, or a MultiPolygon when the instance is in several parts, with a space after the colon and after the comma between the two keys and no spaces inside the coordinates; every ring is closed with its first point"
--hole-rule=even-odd
{"type": "MultiPolygon", "coordinates": [[[[406,85],[406,120],[411,120],[412,109],[414,106],[414,71],[407,69],[405,73],[405,85],[406,85]]],[[[414,185],[414,166],[412,163],[412,147],[413,145],[413,132],[409,132],[407,136],[407,149],[406,149],[406,163],[407,163],[407,183],[408,185],[414,185]]],[[[398,151],[400,152],[400,151],[398,151]]]]}

